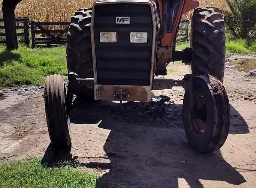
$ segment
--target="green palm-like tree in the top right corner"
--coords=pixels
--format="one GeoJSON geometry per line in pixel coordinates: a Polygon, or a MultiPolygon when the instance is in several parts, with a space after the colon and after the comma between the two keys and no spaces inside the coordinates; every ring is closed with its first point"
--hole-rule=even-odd
{"type": "Polygon", "coordinates": [[[235,38],[248,39],[256,35],[256,0],[226,0],[230,10],[224,10],[225,22],[235,38]]]}

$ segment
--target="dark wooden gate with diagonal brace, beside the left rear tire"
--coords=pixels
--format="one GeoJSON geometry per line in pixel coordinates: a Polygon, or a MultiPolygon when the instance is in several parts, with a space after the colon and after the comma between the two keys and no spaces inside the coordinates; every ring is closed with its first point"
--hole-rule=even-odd
{"type": "Polygon", "coordinates": [[[31,21],[32,48],[37,46],[52,47],[63,45],[67,42],[67,37],[63,37],[68,32],[70,22],[35,22],[31,21]],[[66,26],[63,30],[47,30],[49,25],[66,26]],[[39,37],[38,35],[46,37],[39,37]]]}

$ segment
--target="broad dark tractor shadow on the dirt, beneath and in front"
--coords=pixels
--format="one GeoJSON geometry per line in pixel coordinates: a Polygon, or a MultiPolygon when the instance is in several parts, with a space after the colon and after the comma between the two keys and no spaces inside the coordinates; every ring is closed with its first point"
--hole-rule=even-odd
{"type": "MultiPolygon", "coordinates": [[[[232,107],[231,112],[239,115],[232,107]]],[[[101,121],[99,127],[110,130],[104,151],[111,162],[83,164],[87,168],[109,170],[97,180],[99,188],[178,188],[187,184],[203,188],[201,180],[232,185],[246,182],[223,159],[220,150],[203,155],[190,148],[183,129],[182,105],[168,103],[166,99],[124,104],[78,102],[70,120],[75,124],[101,121]]],[[[248,126],[245,121],[242,123],[245,129],[238,131],[231,126],[231,134],[247,133],[248,126]]]]}

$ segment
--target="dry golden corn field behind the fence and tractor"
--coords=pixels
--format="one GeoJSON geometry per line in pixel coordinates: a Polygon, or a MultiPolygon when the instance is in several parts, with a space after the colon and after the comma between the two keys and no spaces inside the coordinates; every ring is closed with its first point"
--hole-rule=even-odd
{"type": "MultiPolygon", "coordinates": [[[[15,15],[16,17],[28,17],[34,21],[69,22],[76,10],[91,7],[93,2],[94,0],[23,0],[15,9],[15,15]]],[[[222,9],[227,7],[225,0],[199,0],[199,7],[204,6],[222,9]]],[[[2,7],[1,0],[0,7],[2,7]]],[[[182,19],[190,19],[192,13],[192,11],[186,13],[182,19]]],[[[0,9],[0,17],[2,17],[2,8],[0,9]]]]}

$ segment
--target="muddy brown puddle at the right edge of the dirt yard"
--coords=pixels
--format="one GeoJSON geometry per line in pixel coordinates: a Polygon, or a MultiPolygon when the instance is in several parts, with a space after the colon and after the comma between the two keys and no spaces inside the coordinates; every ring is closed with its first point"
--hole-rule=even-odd
{"type": "Polygon", "coordinates": [[[256,59],[235,60],[231,65],[233,65],[233,68],[237,71],[248,73],[249,71],[256,69],[256,59]]]}

